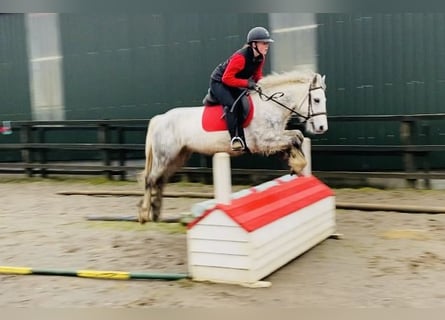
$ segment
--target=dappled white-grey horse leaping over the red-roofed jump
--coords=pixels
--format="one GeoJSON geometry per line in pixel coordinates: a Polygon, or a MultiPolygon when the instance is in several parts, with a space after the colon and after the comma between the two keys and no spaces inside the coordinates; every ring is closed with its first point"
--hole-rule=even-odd
{"type": "MultiPolygon", "coordinates": [[[[286,124],[294,114],[305,122],[310,134],[328,130],[325,77],[291,71],[266,76],[258,85],[260,90],[250,92],[255,108],[250,124],[244,128],[247,146],[252,153],[265,156],[287,152],[289,166],[298,174],[306,165],[299,150],[304,136],[300,130],[286,130],[286,124]]],[[[231,150],[227,130],[207,132],[202,128],[203,109],[174,108],[150,120],[141,174],[145,192],[139,203],[140,223],[159,220],[163,188],[192,153],[242,154],[231,150]]]]}

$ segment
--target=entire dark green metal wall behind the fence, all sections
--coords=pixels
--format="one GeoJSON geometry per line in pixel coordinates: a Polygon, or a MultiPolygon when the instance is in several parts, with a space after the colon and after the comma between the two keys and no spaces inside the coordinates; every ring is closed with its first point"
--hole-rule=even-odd
{"type": "MultiPolygon", "coordinates": [[[[0,121],[32,119],[24,18],[0,14],[0,121]]],[[[443,112],[444,13],[316,18],[329,115],[443,112]]],[[[242,46],[252,26],[268,26],[268,15],[60,14],[59,22],[66,119],[150,118],[176,106],[200,105],[215,65],[242,46]]],[[[277,42],[270,54],[279,50],[277,42]]],[[[271,69],[267,65],[266,73],[271,69]]],[[[399,123],[329,125],[326,134],[311,137],[314,144],[400,142],[399,123]]],[[[429,128],[429,143],[445,143],[443,121],[420,125],[415,139],[425,140],[423,129],[429,128]]],[[[2,139],[12,141],[14,135],[2,139]]],[[[247,163],[262,167],[263,161],[247,163]]],[[[444,161],[435,154],[431,165],[442,168],[444,161]]],[[[315,170],[402,168],[400,157],[324,154],[313,162],[315,170]]]]}

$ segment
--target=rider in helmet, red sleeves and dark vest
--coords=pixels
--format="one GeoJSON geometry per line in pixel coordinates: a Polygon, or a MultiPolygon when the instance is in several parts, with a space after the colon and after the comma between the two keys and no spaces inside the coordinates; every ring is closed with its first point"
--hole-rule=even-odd
{"type": "Polygon", "coordinates": [[[210,92],[224,106],[230,145],[235,151],[245,150],[246,141],[241,123],[242,107],[239,103],[233,108],[232,105],[245,93],[246,88],[255,89],[256,83],[263,77],[265,56],[273,40],[267,29],[255,27],[247,34],[246,42],[241,49],[220,63],[210,76],[210,92]]]}

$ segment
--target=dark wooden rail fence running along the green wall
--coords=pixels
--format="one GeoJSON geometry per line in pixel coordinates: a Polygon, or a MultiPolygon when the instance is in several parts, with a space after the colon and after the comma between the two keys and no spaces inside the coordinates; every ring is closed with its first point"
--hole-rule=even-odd
{"type": "MultiPolygon", "coordinates": [[[[415,115],[364,115],[364,116],[330,116],[329,122],[350,121],[392,121],[400,124],[400,145],[323,145],[314,144],[312,152],[317,153],[343,153],[343,154],[398,154],[404,160],[403,172],[357,172],[357,171],[314,171],[320,178],[354,178],[354,177],[380,177],[403,178],[409,182],[416,179],[445,179],[445,173],[431,172],[429,170],[429,155],[431,152],[445,151],[441,144],[414,144],[413,134],[420,121],[444,120],[445,113],[415,114],[415,115]],[[416,164],[415,158],[422,159],[422,166],[416,164]]],[[[25,173],[28,176],[39,174],[47,176],[58,174],[102,174],[112,179],[114,176],[125,179],[128,171],[142,170],[142,166],[129,165],[129,152],[137,152],[143,158],[143,143],[126,143],[125,133],[138,131],[145,137],[149,119],[129,120],[68,120],[68,121],[11,121],[11,130],[19,131],[19,141],[1,143],[0,140],[0,173],[25,173]],[[45,141],[45,136],[51,131],[85,129],[95,132],[94,142],[88,143],[54,143],[45,141]],[[113,138],[112,138],[113,137],[113,138]],[[92,151],[98,154],[94,159],[97,164],[81,165],[78,162],[58,163],[49,161],[47,154],[50,151],[92,151]],[[17,152],[20,154],[15,161],[2,161],[3,152],[17,152]]],[[[290,127],[297,127],[295,119],[291,120],[290,127]]],[[[82,132],[82,131],[79,131],[82,132]]],[[[445,168],[444,168],[445,169],[445,168]]],[[[248,175],[255,177],[278,176],[287,173],[286,170],[272,169],[236,169],[233,175],[248,175]]],[[[208,167],[184,167],[179,174],[202,174],[211,176],[208,167]]]]}

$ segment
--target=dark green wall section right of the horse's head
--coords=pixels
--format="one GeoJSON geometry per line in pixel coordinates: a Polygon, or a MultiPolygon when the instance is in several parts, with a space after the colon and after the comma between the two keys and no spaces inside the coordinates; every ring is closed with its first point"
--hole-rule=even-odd
{"type": "MultiPolygon", "coordinates": [[[[327,75],[329,115],[444,112],[445,14],[318,14],[319,70],[327,75]]],[[[445,143],[442,121],[419,123],[417,141],[445,143]]],[[[330,122],[314,144],[399,144],[399,123],[330,122]]],[[[434,155],[433,166],[443,157],[434,155]]],[[[400,169],[401,157],[327,155],[323,170],[400,169]]]]}

